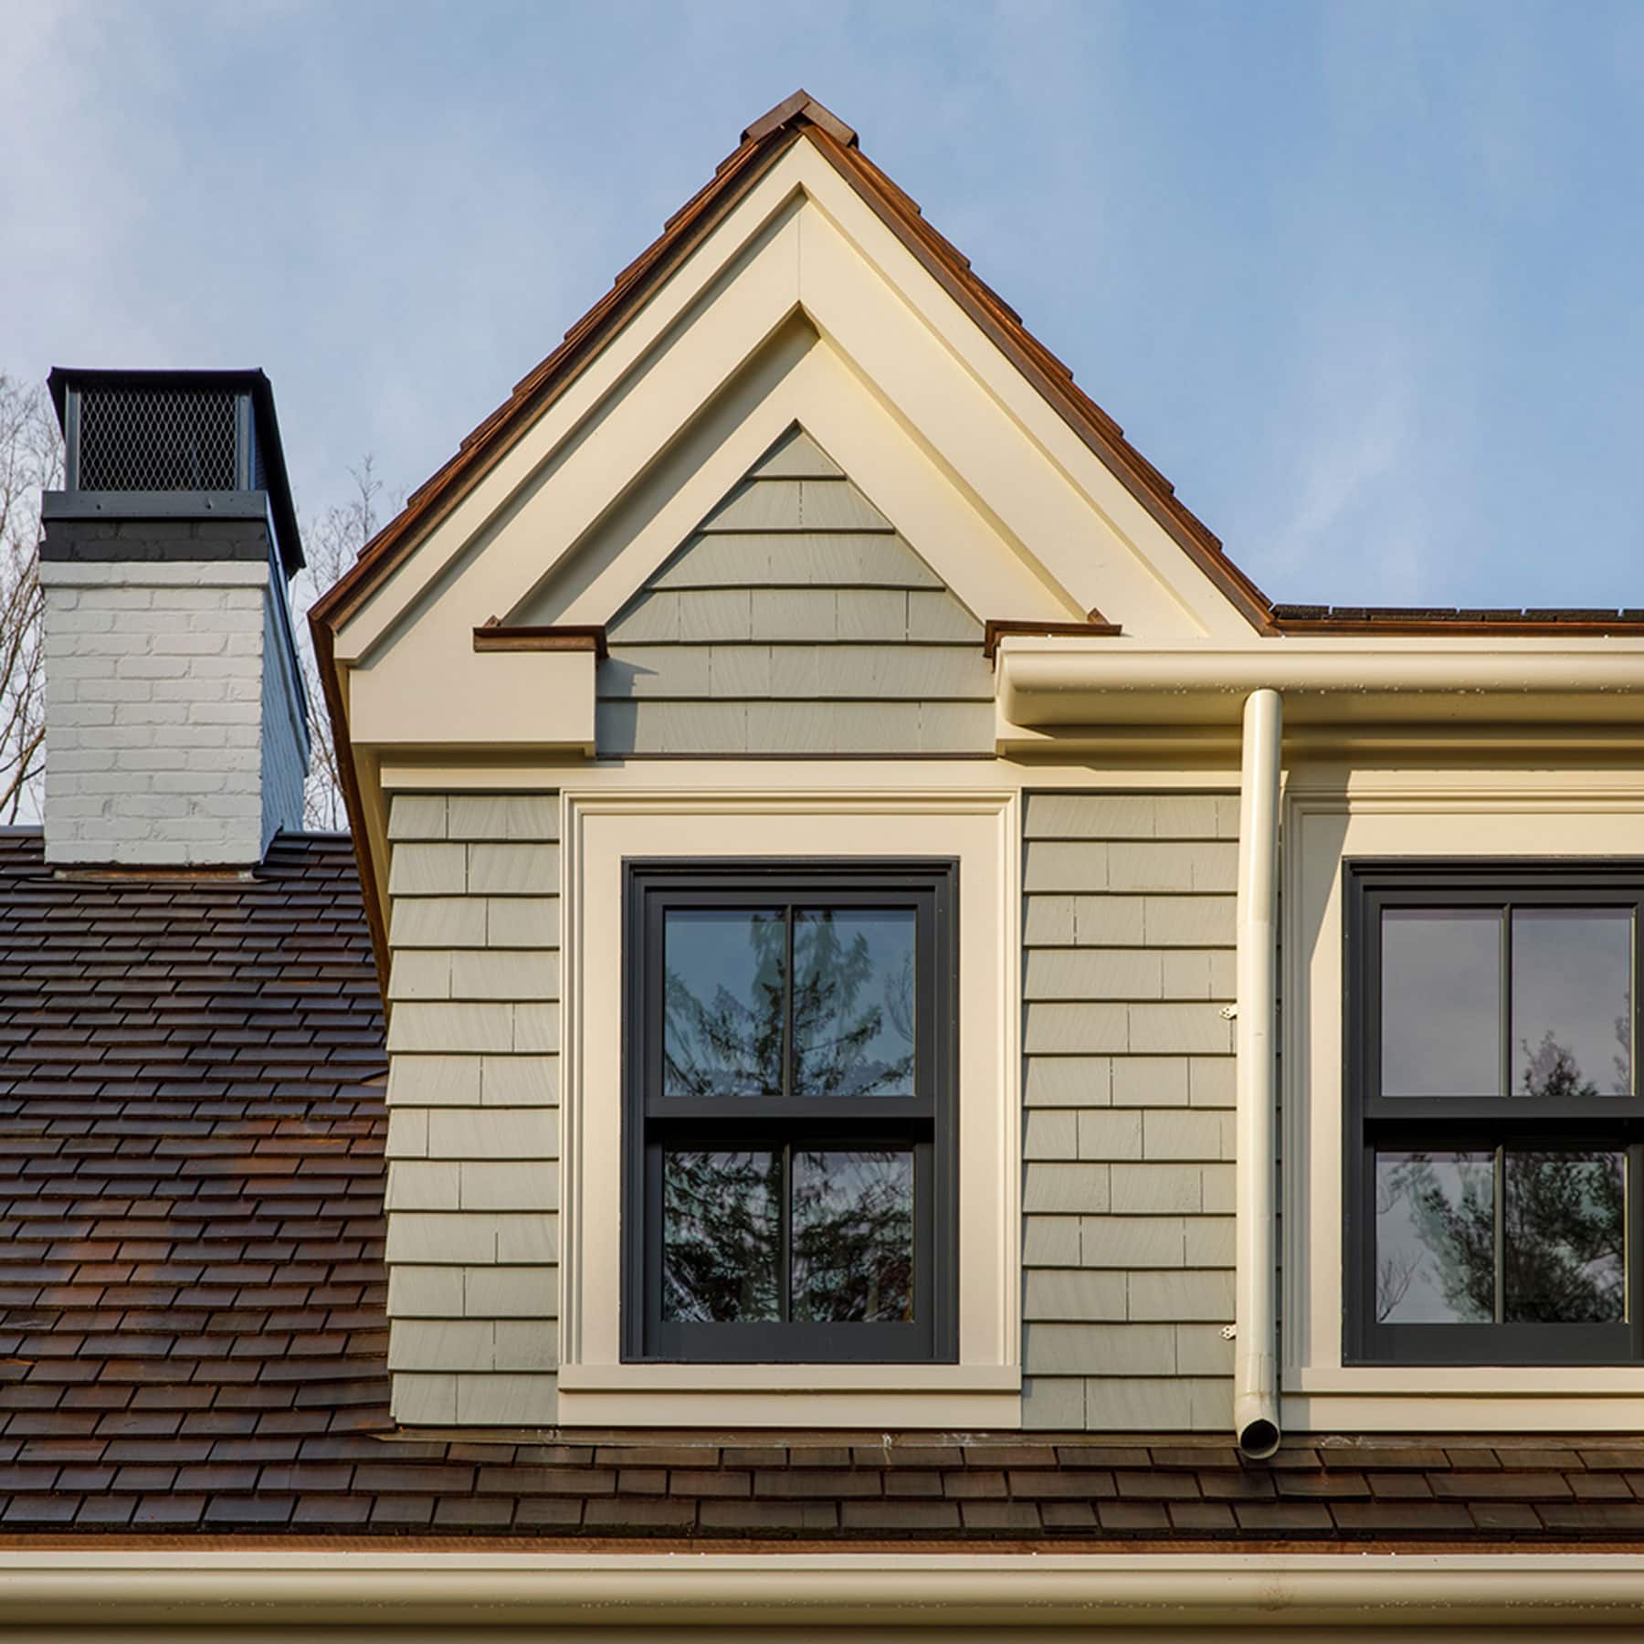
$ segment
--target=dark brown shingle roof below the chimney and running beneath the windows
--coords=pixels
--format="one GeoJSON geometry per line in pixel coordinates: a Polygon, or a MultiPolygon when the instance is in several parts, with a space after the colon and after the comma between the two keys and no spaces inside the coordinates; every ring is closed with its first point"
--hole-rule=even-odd
{"type": "Polygon", "coordinates": [[[283,838],[247,878],[58,878],[0,834],[0,1539],[1644,1539],[1631,1438],[1246,1463],[1217,1435],[401,1435],[383,1129],[347,840],[283,838]]]}

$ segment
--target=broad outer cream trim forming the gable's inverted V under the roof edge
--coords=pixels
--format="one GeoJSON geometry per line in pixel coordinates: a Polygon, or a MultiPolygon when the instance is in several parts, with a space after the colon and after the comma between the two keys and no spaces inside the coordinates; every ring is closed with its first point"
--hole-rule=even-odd
{"type": "MultiPolygon", "coordinates": [[[[432,590],[467,582],[477,547],[528,516],[528,579],[552,572],[796,314],[848,360],[858,399],[878,403],[947,488],[991,521],[991,552],[1016,561],[1039,602],[1111,603],[1144,631],[1259,643],[919,260],[799,143],[340,626],[337,658],[368,656],[432,590]],[[544,515],[533,501],[549,477],[544,515]]],[[[529,587],[493,582],[480,575],[465,598],[500,612],[529,587]]]]}

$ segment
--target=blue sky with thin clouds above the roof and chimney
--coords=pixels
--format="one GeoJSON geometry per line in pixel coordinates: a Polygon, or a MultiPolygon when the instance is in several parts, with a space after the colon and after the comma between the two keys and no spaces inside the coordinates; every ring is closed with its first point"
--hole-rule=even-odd
{"type": "Polygon", "coordinates": [[[1274,598],[1644,605],[1641,0],[0,0],[0,370],[406,490],[801,84],[1274,598]]]}

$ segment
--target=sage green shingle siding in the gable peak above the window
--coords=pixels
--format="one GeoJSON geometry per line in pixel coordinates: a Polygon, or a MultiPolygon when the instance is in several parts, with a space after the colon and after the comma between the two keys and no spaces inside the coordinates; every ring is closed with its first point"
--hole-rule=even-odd
{"type": "Polygon", "coordinates": [[[993,750],[981,623],[799,429],[607,631],[602,753],[993,750]]]}

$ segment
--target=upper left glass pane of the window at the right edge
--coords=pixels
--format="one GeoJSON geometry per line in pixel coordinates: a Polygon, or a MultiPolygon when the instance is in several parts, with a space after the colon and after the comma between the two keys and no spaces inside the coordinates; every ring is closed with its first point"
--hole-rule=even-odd
{"type": "Polygon", "coordinates": [[[1499,909],[1383,909],[1381,1093],[1501,1095],[1499,909]]]}

